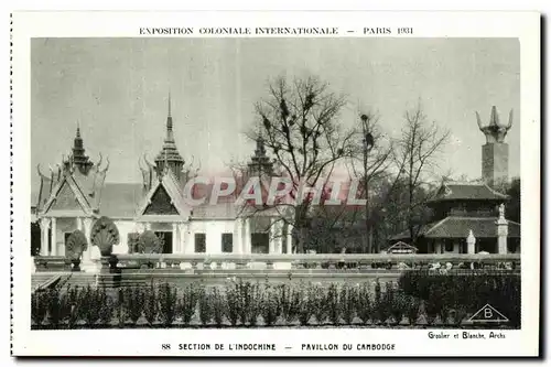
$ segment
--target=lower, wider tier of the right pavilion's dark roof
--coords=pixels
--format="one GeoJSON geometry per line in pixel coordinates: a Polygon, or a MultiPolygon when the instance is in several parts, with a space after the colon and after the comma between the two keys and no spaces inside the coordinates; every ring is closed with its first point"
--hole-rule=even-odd
{"type": "MultiPolygon", "coordinates": [[[[419,237],[425,238],[467,238],[468,231],[480,238],[497,238],[497,217],[471,218],[446,217],[442,220],[424,225],[419,237]]],[[[508,237],[520,238],[520,224],[508,220],[508,237]]],[[[409,239],[409,230],[392,236],[391,240],[409,239]]]]}

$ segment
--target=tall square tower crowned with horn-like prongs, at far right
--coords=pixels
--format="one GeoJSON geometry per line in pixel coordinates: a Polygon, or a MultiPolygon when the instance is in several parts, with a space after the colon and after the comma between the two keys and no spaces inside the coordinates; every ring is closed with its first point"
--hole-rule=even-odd
{"type": "Polygon", "coordinates": [[[482,147],[482,176],[488,185],[496,186],[509,180],[509,144],[504,140],[512,126],[512,109],[507,125],[499,122],[496,106],[491,107],[487,126],[483,126],[478,112],[476,112],[476,120],[478,128],[486,137],[486,144],[482,147]]]}

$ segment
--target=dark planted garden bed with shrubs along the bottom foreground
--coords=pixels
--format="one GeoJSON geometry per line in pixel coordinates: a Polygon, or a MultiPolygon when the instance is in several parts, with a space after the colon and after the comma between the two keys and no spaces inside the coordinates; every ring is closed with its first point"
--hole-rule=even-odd
{"type": "MultiPolygon", "coordinates": [[[[407,272],[398,283],[170,283],[120,289],[60,284],[32,294],[32,328],[476,328],[493,304],[520,327],[520,277],[407,272]]],[[[484,326],[487,328],[487,325],[484,326]]]]}

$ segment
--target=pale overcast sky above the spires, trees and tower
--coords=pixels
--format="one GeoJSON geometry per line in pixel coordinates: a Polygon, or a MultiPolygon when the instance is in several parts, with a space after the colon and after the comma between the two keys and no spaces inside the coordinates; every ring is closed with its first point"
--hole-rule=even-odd
{"type": "Polygon", "coordinates": [[[422,100],[425,114],[452,133],[442,172],[480,176],[475,110],[485,123],[515,109],[509,173],[520,171],[520,60],[517,40],[491,39],[34,39],[32,41],[32,177],[61,162],[77,121],[87,153],[109,155],[109,182],[140,182],[138,158],[150,160],[165,134],[172,94],[181,154],[214,174],[246,159],[242,132],[253,102],[279,75],[315,75],[345,94],[344,123],[358,108],[380,115],[397,134],[403,114],[422,100]]]}

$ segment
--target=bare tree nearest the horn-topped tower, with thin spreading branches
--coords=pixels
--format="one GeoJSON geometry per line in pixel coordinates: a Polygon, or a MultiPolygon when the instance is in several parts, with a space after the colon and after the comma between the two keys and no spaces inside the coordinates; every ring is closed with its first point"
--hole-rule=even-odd
{"type": "Polygon", "coordinates": [[[421,226],[415,216],[430,199],[425,190],[437,171],[440,154],[450,138],[450,131],[430,122],[419,102],[404,115],[406,125],[396,144],[396,163],[407,186],[407,226],[412,244],[421,226]]]}

